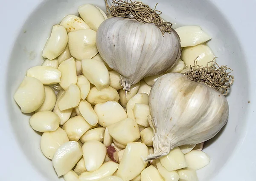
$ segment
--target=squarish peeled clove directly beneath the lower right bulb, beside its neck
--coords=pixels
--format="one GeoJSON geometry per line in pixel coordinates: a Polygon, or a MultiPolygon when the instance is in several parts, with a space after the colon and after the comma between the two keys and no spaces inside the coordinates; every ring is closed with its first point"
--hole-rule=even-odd
{"type": "Polygon", "coordinates": [[[188,166],[185,156],[179,147],[172,149],[168,155],[160,157],[159,159],[163,167],[165,167],[169,172],[186,168],[188,166]]]}

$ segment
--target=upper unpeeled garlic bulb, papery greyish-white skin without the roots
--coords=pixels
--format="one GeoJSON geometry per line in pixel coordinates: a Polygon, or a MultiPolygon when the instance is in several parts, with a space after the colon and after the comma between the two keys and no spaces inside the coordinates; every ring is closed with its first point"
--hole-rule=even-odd
{"type": "Polygon", "coordinates": [[[181,53],[180,38],[173,29],[163,36],[153,23],[119,17],[102,22],[96,45],[109,67],[121,75],[127,91],[144,77],[167,71],[181,53]]]}

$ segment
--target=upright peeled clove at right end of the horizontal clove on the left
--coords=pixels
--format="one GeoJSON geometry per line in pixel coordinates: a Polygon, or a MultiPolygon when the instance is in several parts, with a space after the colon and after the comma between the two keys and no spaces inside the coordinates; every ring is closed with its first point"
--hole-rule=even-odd
{"type": "Polygon", "coordinates": [[[76,62],[73,57],[61,62],[58,70],[61,72],[61,82],[59,84],[63,90],[66,91],[71,84],[76,84],[76,62]]]}

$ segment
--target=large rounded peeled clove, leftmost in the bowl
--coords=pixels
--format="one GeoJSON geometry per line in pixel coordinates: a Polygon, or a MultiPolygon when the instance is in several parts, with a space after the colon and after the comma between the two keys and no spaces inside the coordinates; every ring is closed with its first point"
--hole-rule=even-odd
{"type": "Polygon", "coordinates": [[[44,102],[44,85],[34,77],[24,77],[14,94],[15,102],[20,106],[21,112],[32,113],[44,102]]]}

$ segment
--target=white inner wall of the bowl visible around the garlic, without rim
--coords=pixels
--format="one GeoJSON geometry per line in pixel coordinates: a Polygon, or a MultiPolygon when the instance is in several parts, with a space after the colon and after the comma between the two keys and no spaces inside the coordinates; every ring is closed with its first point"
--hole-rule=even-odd
{"type": "MultiPolygon", "coordinates": [[[[228,65],[233,69],[235,83],[230,95],[227,96],[230,105],[230,116],[227,125],[214,139],[207,142],[204,151],[211,157],[209,166],[198,171],[199,180],[214,180],[214,175],[228,163],[238,141],[244,134],[243,127],[247,116],[248,74],[247,62],[239,45],[236,34],[220,12],[210,1],[193,0],[143,0],[149,6],[162,11],[166,21],[174,23],[174,28],[181,25],[199,25],[211,37],[207,44],[218,57],[219,65],[228,65]],[[241,61],[243,63],[241,63],[241,61]]],[[[58,180],[52,163],[41,153],[40,135],[29,126],[28,114],[22,114],[13,99],[26,70],[43,62],[42,50],[50,35],[52,26],[60,23],[68,14],[78,14],[77,9],[85,3],[93,3],[105,10],[103,0],[45,0],[27,18],[20,29],[14,45],[8,66],[8,83],[6,85],[6,102],[10,122],[16,139],[27,159],[31,161],[40,177],[46,180],[58,180]]]]}

